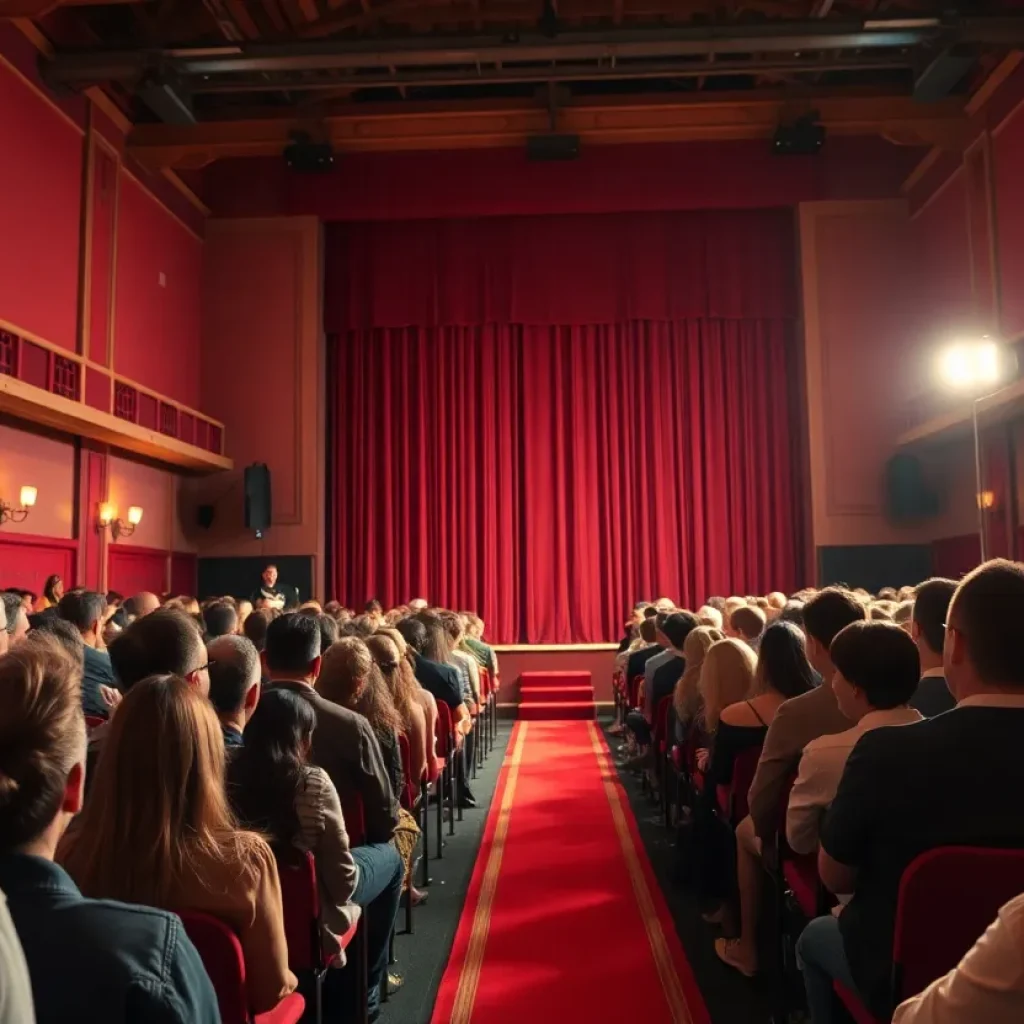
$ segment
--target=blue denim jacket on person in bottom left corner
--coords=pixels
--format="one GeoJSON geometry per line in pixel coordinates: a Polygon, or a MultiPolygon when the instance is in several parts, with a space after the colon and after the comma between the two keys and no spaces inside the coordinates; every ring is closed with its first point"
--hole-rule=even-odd
{"type": "Polygon", "coordinates": [[[213,985],[165,910],[86,899],[57,864],[0,856],[37,1024],[219,1024],[213,985]]]}

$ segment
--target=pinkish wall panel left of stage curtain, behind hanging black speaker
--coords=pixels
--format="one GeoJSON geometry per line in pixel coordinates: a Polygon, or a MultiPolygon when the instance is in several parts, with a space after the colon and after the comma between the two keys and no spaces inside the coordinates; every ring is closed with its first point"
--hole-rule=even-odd
{"type": "Polygon", "coordinates": [[[203,554],[312,555],[324,580],[324,341],[321,228],[313,217],[212,220],[207,233],[203,408],[223,421],[231,474],[189,481],[183,516],[214,506],[203,554]],[[242,469],[270,467],[273,521],[262,541],[244,523],[242,469]]]}

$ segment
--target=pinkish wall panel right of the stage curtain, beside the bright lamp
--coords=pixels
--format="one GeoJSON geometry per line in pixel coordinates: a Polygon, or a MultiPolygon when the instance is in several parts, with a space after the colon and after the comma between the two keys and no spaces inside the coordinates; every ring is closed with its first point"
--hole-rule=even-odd
{"type": "Polygon", "coordinates": [[[798,216],[812,543],[918,543],[887,520],[884,486],[918,365],[906,204],[806,203],[798,216]]]}

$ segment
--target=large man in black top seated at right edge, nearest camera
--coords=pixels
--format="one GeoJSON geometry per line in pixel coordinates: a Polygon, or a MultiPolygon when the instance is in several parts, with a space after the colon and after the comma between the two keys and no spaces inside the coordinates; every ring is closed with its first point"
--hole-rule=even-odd
{"type": "MultiPolygon", "coordinates": [[[[836,1015],[833,981],[872,1013],[892,1011],[900,879],[939,846],[1024,848],[1024,566],[987,562],[965,578],[947,618],[944,665],[957,706],[854,748],[825,816],[818,873],[853,893],[839,918],[812,921],[798,958],[814,1024],[836,1015]]],[[[941,899],[941,894],[937,894],[941,899]]]]}

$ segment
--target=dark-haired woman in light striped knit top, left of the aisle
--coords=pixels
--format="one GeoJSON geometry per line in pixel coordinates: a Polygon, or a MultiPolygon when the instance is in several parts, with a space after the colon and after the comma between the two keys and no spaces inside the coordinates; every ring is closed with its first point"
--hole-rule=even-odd
{"type": "Polygon", "coordinates": [[[228,769],[228,797],[239,820],[265,836],[282,856],[289,847],[316,861],[324,949],[345,963],[339,935],[359,919],[351,902],[358,881],[334,782],[309,764],[316,712],[292,690],[266,690],[246,741],[228,769]]]}

